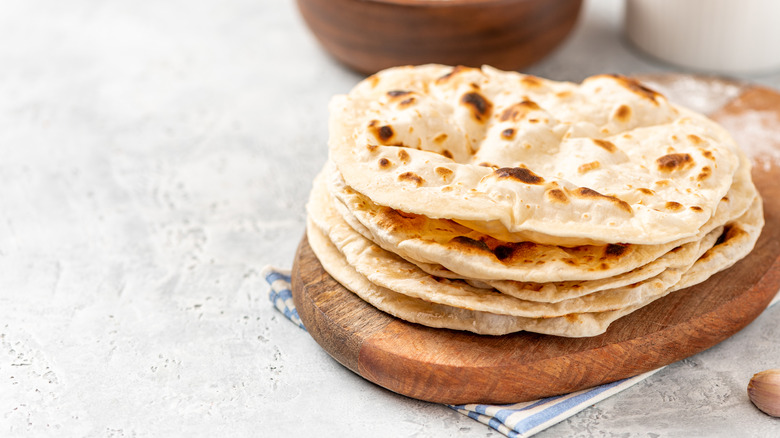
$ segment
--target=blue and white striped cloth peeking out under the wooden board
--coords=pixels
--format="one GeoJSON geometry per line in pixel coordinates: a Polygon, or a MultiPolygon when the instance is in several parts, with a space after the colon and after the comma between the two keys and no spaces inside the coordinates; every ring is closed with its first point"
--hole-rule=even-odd
{"type": "MultiPolygon", "coordinates": [[[[298,317],[298,311],[295,309],[295,304],[292,301],[290,271],[269,266],[263,269],[263,277],[271,286],[269,297],[274,306],[284,316],[306,330],[298,317]]],[[[772,300],[770,306],[778,301],[780,301],[780,294],[772,300]]],[[[661,368],[595,388],[530,402],[511,405],[467,404],[447,406],[480,423],[487,424],[510,438],[525,438],[541,432],[577,412],[641,382],[659,370],[661,368]]]]}

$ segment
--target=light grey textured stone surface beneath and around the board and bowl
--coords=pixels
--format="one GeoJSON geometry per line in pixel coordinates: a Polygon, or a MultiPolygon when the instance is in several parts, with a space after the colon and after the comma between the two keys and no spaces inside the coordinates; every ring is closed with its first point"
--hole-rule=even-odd
{"type": "MultiPolygon", "coordinates": [[[[673,70],[623,42],[620,2],[586,6],[530,73],[673,70]]],[[[3,1],[0,436],[499,436],[363,381],[267,300],[359,79],[289,0],[3,1]]],[[[780,367],[778,319],[539,436],[776,436],[745,387],[780,367]]]]}

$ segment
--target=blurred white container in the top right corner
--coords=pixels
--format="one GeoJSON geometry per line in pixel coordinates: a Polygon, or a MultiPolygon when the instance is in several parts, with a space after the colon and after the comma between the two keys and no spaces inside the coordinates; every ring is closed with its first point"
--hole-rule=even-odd
{"type": "Polygon", "coordinates": [[[648,54],[693,70],[780,70],[780,0],[626,0],[626,35],[648,54]]]}

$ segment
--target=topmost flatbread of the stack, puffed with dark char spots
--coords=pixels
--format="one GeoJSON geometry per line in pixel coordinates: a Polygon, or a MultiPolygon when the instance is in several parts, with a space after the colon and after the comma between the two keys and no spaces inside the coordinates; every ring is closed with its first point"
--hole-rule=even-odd
{"type": "Polygon", "coordinates": [[[373,202],[504,241],[662,244],[699,233],[739,165],[729,134],[623,77],[440,65],[330,106],[330,157],[373,202]]]}

